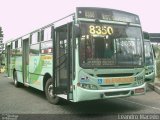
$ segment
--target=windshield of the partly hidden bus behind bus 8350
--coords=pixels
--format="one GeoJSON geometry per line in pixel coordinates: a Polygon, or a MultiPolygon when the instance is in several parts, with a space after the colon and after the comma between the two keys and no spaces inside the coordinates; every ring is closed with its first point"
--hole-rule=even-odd
{"type": "Polygon", "coordinates": [[[153,65],[153,51],[150,41],[144,42],[145,49],[145,65],[153,65]]]}

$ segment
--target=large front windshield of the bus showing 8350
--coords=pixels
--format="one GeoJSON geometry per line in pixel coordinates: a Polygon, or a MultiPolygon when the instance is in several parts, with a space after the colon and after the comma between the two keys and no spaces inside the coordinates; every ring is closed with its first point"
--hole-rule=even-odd
{"type": "Polygon", "coordinates": [[[80,27],[81,67],[135,67],[143,64],[139,27],[84,22],[80,27]]]}

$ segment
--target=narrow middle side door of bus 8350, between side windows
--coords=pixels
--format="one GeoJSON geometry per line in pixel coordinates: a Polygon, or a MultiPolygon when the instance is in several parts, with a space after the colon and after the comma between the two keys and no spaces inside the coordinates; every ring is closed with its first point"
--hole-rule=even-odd
{"type": "Polygon", "coordinates": [[[28,66],[29,66],[29,38],[23,39],[23,82],[28,85],[28,66]]]}

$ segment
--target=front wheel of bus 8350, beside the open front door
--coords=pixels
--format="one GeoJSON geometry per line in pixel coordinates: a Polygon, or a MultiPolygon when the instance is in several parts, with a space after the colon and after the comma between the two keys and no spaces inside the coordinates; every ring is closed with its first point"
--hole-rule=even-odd
{"type": "Polygon", "coordinates": [[[59,104],[60,98],[53,94],[52,78],[48,79],[45,85],[45,94],[48,101],[52,104],[59,104]]]}

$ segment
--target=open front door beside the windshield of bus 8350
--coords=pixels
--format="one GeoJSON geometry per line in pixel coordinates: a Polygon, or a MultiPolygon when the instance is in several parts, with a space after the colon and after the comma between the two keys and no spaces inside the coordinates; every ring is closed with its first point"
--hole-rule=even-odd
{"type": "Polygon", "coordinates": [[[55,38],[55,94],[69,98],[71,85],[71,24],[56,28],[55,38]]]}

